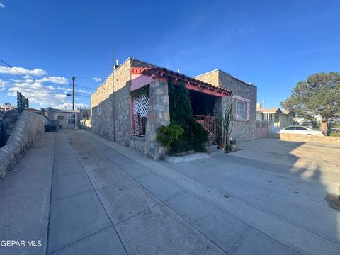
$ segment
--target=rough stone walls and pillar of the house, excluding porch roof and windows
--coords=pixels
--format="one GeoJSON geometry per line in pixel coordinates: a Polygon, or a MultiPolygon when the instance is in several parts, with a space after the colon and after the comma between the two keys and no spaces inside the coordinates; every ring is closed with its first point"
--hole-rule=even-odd
{"type": "MultiPolygon", "coordinates": [[[[131,67],[155,67],[152,64],[129,58],[98,87],[91,95],[91,130],[98,135],[137,149],[148,157],[158,160],[166,154],[166,148],[157,142],[157,132],[161,125],[169,125],[168,84],[164,79],[155,79],[149,84],[149,105],[145,137],[131,135],[131,67]]],[[[227,74],[210,72],[197,79],[222,86],[238,96],[249,98],[250,118],[246,122],[235,123],[232,135],[238,141],[251,140],[256,129],[256,86],[244,84],[237,79],[229,79],[227,74]]],[[[231,97],[215,98],[214,115],[227,108],[231,97]]]]}

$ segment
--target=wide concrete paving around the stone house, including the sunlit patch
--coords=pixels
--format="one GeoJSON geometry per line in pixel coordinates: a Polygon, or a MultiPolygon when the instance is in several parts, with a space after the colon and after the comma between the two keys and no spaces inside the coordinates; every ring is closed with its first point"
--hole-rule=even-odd
{"type": "Polygon", "coordinates": [[[238,146],[169,164],[83,130],[47,133],[0,182],[0,239],[42,246],[0,254],[339,254],[340,147],[238,146]]]}

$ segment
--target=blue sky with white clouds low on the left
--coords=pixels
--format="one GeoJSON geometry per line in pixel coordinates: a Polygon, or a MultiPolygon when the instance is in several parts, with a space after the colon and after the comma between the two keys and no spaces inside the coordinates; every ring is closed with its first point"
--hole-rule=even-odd
{"type": "Polygon", "coordinates": [[[279,106],[297,81],[340,72],[340,1],[0,0],[0,103],[90,105],[115,58],[132,56],[195,76],[220,68],[279,106]],[[2,67],[1,67],[2,66],[2,67]],[[26,74],[25,77],[19,74],[26,74]],[[29,76],[27,76],[29,75],[29,76]]]}

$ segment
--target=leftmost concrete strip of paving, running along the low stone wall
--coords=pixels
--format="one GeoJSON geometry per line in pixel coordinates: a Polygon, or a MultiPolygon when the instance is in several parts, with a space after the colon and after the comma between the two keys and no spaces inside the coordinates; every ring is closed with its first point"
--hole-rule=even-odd
{"type": "Polygon", "coordinates": [[[45,254],[55,154],[55,133],[45,133],[0,181],[0,254],[45,254]],[[28,246],[34,241],[36,246],[28,246]],[[41,242],[38,244],[38,241],[41,242]]]}

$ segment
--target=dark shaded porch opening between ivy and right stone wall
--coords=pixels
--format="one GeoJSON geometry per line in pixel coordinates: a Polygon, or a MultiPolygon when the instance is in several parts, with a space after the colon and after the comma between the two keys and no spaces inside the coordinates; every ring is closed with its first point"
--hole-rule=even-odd
{"type": "Polygon", "coordinates": [[[212,116],[214,113],[215,96],[189,90],[193,115],[212,116]]]}

